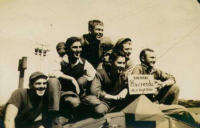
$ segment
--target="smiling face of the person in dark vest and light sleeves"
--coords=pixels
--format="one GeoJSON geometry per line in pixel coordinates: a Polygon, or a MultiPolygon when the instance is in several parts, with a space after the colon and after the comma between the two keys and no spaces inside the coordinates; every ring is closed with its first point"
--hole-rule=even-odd
{"type": "Polygon", "coordinates": [[[82,51],[81,42],[76,41],[70,47],[70,56],[75,59],[79,59],[81,51],[82,51]]]}

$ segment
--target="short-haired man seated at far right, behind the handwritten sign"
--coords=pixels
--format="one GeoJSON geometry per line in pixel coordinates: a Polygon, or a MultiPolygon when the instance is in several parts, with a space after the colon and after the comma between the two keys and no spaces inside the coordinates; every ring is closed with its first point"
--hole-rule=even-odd
{"type": "Polygon", "coordinates": [[[141,64],[133,69],[132,74],[153,75],[158,90],[155,100],[162,104],[177,104],[179,87],[172,75],[154,67],[156,63],[154,51],[148,48],[143,49],[140,53],[140,61],[141,64]]]}

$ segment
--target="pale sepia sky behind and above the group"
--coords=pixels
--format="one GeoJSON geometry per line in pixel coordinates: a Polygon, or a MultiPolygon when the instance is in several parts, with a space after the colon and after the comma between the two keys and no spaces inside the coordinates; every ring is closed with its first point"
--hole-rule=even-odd
{"type": "Polygon", "coordinates": [[[143,48],[157,55],[157,68],[176,77],[180,98],[200,99],[200,4],[197,0],[0,0],[0,104],[18,87],[18,60],[28,57],[30,73],[48,70],[55,46],[70,36],[88,33],[92,19],[104,22],[113,42],[133,41],[135,64],[143,48]],[[45,58],[34,55],[44,44],[45,58]]]}

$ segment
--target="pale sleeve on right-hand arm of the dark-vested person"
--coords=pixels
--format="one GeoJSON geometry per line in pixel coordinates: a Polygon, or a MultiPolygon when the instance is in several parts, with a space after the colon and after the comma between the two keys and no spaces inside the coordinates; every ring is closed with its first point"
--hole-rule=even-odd
{"type": "Polygon", "coordinates": [[[85,61],[84,70],[85,74],[83,77],[85,77],[88,81],[92,81],[95,77],[96,70],[87,60],[85,61]]]}

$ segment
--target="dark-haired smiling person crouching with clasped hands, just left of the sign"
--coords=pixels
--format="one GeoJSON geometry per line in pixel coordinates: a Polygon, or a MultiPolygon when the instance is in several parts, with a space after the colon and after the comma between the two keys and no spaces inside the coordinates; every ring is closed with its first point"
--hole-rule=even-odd
{"type": "MultiPolygon", "coordinates": [[[[95,112],[105,114],[123,103],[128,94],[127,83],[124,78],[125,56],[119,52],[111,53],[110,70],[100,69],[91,84],[91,98],[95,105],[95,112]]],[[[90,98],[88,98],[90,100],[90,98]]]]}

